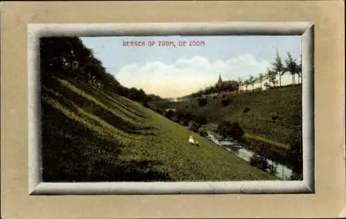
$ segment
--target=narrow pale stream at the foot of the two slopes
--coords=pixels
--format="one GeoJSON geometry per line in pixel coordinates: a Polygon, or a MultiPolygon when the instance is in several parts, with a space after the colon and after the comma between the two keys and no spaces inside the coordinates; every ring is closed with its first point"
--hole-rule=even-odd
{"type": "MultiPolygon", "coordinates": [[[[251,157],[256,154],[254,151],[245,149],[244,146],[240,145],[234,140],[224,139],[223,137],[215,133],[208,132],[208,139],[210,139],[215,144],[222,146],[224,149],[226,149],[230,153],[234,153],[235,155],[237,155],[242,160],[245,160],[246,162],[250,162],[251,157]]],[[[293,174],[292,169],[289,169],[289,167],[287,167],[284,164],[273,162],[272,160],[269,160],[269,159],[266,159],[266,160],[268,164],[275,166],[275,175],[278,178],[281,178],[282,180],[291,179],[291,175],[293,174]]]]}

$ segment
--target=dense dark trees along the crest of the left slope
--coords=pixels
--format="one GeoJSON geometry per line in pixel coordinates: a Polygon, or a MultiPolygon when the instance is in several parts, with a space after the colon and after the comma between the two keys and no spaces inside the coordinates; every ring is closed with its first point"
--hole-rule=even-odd
{"type": "Polygon", "coordinates": [[[53,75],[64,75],[138,102],[162,99],[158,95],[146,94],[143,89],[122,86],[79,37],[42,37],[39,48],[42,82],[53,75]]]}

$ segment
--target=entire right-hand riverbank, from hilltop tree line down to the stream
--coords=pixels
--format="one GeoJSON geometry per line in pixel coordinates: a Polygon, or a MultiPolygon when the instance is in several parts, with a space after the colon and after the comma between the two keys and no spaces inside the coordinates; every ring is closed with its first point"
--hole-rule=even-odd
{"type": "Polygon", "coordinates": [[[302,172],[301,85],[272,88],[236,95],[206,97],[168,103],[182,120],[204,117],[205,127],[217,131],[218,124],[239,124],[244,146],[302,172]],[[226,104],[223,100],[227,100],[226,104]],[[187,116],[189,115],[189,116],[187,116]]]}

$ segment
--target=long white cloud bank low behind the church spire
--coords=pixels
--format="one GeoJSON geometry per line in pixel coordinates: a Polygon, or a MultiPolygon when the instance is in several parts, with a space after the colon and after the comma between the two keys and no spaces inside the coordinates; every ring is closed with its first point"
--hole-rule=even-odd
{"type": "MultiPolygon", "coordinates": [[[[210,61],[206,57],[181,57],[174,64],[161,61],[147,62],[143,66],[129,64],[116,74],[119,82],[127,87],[142,88],[145,93],[161,97],[181,97],[217,82],[219,73],[224,80],[248,79],[265,73],[271,63],[258,60],[251,54],[240,55],[226,61],[210,61]]],[[[283,84],[291,82],[284,77],[283,84]]],[[[255,86],[256,87],[256,86],[255,86]]]]}

